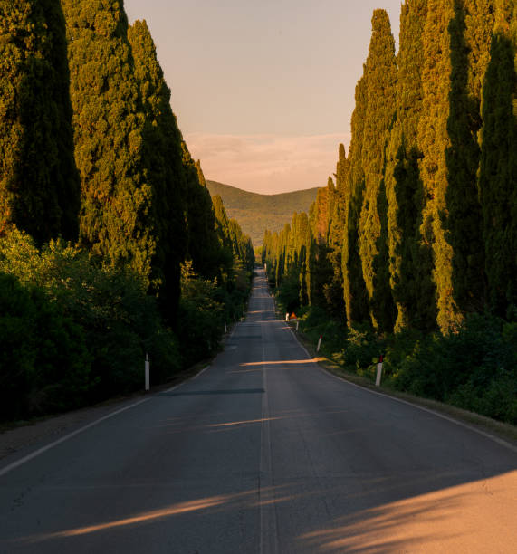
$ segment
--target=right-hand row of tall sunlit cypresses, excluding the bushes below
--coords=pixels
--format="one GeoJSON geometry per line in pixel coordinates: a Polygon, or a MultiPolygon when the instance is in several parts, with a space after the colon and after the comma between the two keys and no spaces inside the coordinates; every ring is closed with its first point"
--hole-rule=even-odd
{"type": "Polygon", "coordinates": [[[294,224],[303,215],[266,232],[263,262],[277,285],[299,279],[299,302],[320,299],[349,326],[446,334],[471,312],[513,319],[517,5],[401,10],[397,54],[388,14],[373,14],[348,156],[340,145],[336,186],[305,216],[311,234],[294,224]]]}

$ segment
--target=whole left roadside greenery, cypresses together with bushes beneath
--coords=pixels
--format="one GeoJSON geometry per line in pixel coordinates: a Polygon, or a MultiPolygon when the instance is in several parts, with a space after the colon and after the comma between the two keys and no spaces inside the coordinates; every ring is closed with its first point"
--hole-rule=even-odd
{"type": "Polygon", "coordinates": [[[0,5],[0,416],[134,388],[149,350],[158,382],[244,310],[253,245],[170,96],[120,0],[0,5]]]}

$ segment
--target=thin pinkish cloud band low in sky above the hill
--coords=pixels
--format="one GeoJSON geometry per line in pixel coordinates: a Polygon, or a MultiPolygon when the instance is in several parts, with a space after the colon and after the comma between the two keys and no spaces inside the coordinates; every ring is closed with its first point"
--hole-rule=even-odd
{"type": "Polygon", "coordinates": [[[284,137],[191,133],[187,144],[206,178],[262,194],[325,186],[349,133],[284,137]]]}

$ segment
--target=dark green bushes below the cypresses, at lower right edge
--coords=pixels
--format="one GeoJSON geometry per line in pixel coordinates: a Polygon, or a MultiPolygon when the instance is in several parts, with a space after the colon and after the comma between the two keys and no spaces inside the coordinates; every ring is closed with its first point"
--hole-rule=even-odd
{"type": "Polygon", "coordinates": [[[473,314],[458,333],[416,343],[394,385],[516,424],[516,330],[515,323],[473,314]]]}

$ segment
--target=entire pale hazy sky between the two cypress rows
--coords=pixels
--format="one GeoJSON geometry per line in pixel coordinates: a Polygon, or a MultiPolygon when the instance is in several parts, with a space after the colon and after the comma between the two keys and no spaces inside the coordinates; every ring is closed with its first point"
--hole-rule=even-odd
{"type": "Polygon", "coordinates": [[[208,179],[273,194],[325,186],[349,146],[375,8],[400,0],[125,0],[148,22],[172,109],[208,179]]]}

